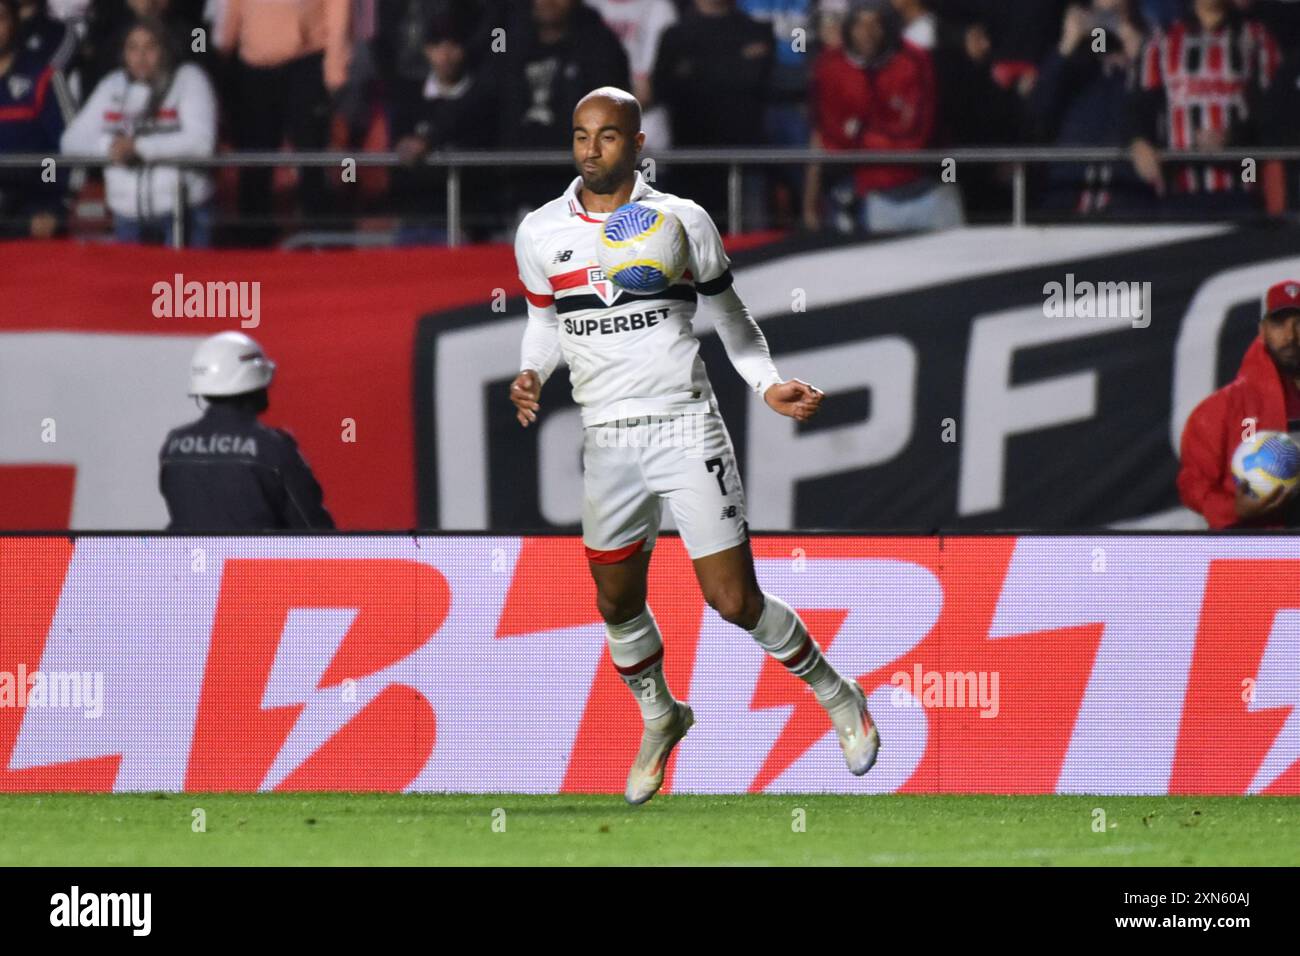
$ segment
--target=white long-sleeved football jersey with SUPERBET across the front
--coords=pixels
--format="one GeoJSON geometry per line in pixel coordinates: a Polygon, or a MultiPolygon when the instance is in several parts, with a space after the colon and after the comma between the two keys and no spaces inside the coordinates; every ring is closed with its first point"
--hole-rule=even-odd
{"type": "Polygon", "coordinates": [[[702,207],[636,174],[629,202],[673,212],[690,255],[685,274],[668,289],[629,293],[601,271],[597,246],[610,213],[588,212],[581,189],[582,177],[575,177],[564,195],[525,216],[515,234],[529,315],[520,369],[536,369],[545,382],[563,355],[584,425],[715,410],[692,320],[697,294],[728,293],[738,308],[719,316],[719,333],[732,363],[755,392],[780,381],[762,332],[731,291],[731,259],[702,207]]]}

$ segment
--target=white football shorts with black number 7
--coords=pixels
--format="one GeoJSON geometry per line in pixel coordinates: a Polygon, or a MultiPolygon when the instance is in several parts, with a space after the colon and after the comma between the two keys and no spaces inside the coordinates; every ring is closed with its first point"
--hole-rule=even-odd
{"type": "Polygon", "coordinates": [[[716,411],[618,419],[582,436],[589,561],[612,564],[651,550],[663,498],[692,559],[749,538],[736,451],[716,411]]]}

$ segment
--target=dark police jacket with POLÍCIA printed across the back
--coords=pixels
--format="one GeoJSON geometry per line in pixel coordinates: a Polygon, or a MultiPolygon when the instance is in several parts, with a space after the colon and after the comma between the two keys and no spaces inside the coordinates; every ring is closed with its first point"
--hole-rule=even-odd
{"type": "Polygon", "coordinates": [[[169,531],[334,527],[298,444],[251,410],[208,406],[168,433],[160,458],[169,531]]]}

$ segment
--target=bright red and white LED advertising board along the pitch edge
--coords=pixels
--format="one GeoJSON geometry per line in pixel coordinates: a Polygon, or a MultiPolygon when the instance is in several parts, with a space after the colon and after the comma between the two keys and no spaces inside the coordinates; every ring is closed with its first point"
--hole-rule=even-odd
{"type": "MultiPolygon", "coordinates": [[[[880,761],[663,537],[668,792],[1300,795],[1295,538],[754,550],[880,761]]],[[[640,737],[575,537],[0,538],[0,791],[621,792],[640,737]]]]}

